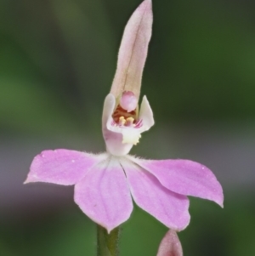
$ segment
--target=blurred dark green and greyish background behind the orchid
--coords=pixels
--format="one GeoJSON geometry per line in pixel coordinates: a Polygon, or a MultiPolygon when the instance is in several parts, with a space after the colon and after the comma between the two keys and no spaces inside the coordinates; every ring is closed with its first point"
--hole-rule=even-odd
{"type": "MultiPolygon", "coordinates": [[[[45,149],[104,151],[101,111],[140,0],[0,0],[0,254],[95,255],[73,187],[23,185],[45,149]]],[[[187,256],[255,255],[255,3],[154,0],[142,94],[156,125],[132,153],[211,168],[224,209],[190,199],[187,256]]],[[[167,228],[135,208],[121,255],[156,255],[167,228]]]]}

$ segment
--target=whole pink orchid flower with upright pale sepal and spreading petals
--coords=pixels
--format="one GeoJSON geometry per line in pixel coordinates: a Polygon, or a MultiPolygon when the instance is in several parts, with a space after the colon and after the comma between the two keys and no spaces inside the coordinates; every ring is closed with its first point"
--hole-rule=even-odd
{"type": "Polygon", "coordinates": [[[26,179],[26,183],[75,185],[77,205],[108,232],[130,217],[132,198],[173,230],[183,230],[190,222],[187,196],[223,205],[221,185],[200,163],[127,155],[139,142],[140,134],[154,124],[145,96],[138,108],[151,26],[151,1],[144,0],[125,28],[111,94],[105,98],[102,128],[107,152],[42,151],[31,163],[26,179]]]}

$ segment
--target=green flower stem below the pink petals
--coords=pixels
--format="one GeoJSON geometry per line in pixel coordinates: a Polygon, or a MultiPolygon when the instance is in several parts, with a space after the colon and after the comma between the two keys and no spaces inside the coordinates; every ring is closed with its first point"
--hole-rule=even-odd
{"type": "Polygon", "coordinates": [[[105,228],[97,225],[98,253],[97,256],[118,256],[120,228],[116,227],[108,234],[105,228]]]}

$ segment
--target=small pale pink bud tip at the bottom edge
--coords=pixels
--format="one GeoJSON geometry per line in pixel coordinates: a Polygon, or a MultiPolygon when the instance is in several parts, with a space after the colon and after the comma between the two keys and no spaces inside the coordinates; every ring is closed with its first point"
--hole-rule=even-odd
{"type": "Polygon", "coordinates": [[[183,256],[183,248],[174,230],[168,230],[156,256],[183,256]]]}

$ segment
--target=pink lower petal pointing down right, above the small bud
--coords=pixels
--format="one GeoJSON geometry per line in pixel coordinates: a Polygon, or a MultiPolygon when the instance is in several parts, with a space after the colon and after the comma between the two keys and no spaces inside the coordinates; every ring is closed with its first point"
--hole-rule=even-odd
{"type": "Polygon", "coordinates": [[[128,159],[121,159],[130,191],[140,208],[173,230],[184,230],[190,222],[189,199],[167,190],[149,172],[128,159]]]}

